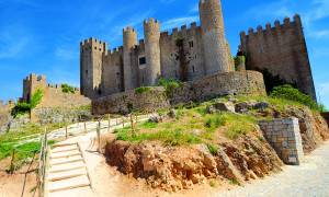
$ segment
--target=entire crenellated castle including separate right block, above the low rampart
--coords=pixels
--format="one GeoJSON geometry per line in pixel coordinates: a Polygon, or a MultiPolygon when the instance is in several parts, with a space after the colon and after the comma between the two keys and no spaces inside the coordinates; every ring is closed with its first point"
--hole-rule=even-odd
{"type": "MultiPolygon", "coordinates": [[[[160,32],[160,23],[144,22],[145,39],[137,43],[137,32],[123,30],[123,46],[107,50],[95,38],[80,43],[80,88],[91,100],[139,86],[155,85],[159,78],[193,82],[214,74],[257,70],[265,73],[265,84],[273,78],[295,84],[316,101],[315,85],[299,15],[274,26],[241,32],[238,56],[246,57],[237,68],[225,37],[220,0],[200,0],[201,25],[160,32]]],[[[243,58],[242,58],[243,59],[243,58]]],[[[277,85],[277,84],[276,84],[277,85]]]]}

